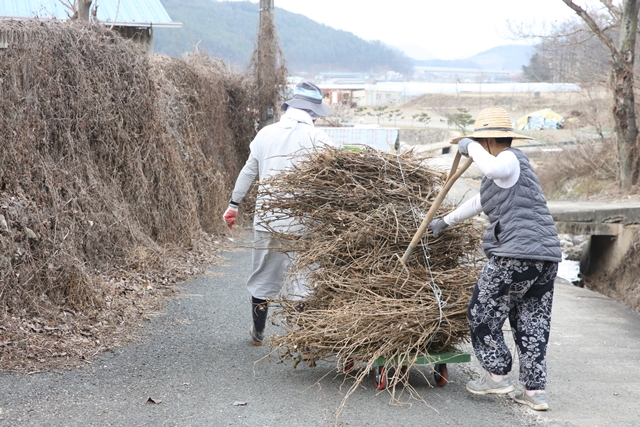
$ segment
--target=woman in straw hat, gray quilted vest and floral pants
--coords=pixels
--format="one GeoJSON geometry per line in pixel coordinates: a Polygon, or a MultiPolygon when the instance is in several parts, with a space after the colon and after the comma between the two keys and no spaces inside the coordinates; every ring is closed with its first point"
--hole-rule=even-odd
{"type": "Polygon", "coordinates": [[[473,394],[515,390],[508,376],[512,355],[502,332],[508,317],[524,385],[515,400],[547,410],[546,350],[562,252],[538,178],[527,156],[511,147],[514,139],[531,138],[513,133],[506,110],[492,107],[478,114],[473,134],[452,141],[482,172],[480,193],[434,219],[429,228],[437,238],[448,226],[482,212],[489,218],[482,238],[488,260],[468,307],[473,349],[487,373],[467,383],[467,390],[473,394]]]}

